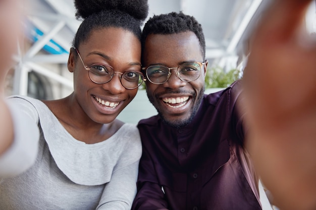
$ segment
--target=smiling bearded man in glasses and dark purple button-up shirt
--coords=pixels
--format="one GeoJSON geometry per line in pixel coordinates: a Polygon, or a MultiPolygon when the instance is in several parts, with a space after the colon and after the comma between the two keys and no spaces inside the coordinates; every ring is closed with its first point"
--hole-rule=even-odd
{"type": "Polygon", "coordinates": [[[191,16],[154,16],[142,34],[147,96],[158,115],[143,144],[132,209],[261,209],[237,113],[241,84],[204,94],[205,40],[191,16]]]}

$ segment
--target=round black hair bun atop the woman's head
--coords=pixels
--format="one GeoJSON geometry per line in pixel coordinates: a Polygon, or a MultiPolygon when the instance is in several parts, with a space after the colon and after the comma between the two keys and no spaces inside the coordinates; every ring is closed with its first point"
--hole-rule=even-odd
{"type": "Polygon", "coordinates": [[[147,0],[74,0],[76,18],[86,19],[103,10],[120,10],[144,21],[148,15],[147,0]]]}

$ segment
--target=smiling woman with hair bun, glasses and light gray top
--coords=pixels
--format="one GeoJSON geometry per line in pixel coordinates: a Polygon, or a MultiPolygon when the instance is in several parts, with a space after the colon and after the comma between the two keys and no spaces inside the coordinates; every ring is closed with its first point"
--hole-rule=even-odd
{"type": "Polygon", "coordinates": [[[140,26],[147,1],[75,0],[75,6],[83,22],[68,59],[74,92],[52,101],[8,99],[19,116],[13,129],[25,133],[8,138],[16,143],[28,136],[38,152],[23,173],[2,178],[0,209],[131,208],[141,143],[136,126],[116,118],[143,81],[140,26]]]}

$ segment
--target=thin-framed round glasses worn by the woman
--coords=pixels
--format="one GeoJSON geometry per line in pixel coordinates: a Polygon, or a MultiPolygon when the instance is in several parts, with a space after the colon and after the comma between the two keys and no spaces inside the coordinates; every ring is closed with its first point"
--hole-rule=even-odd
{"type": "Polygon", "coordinates": [[[140,72],[133,72],[133,71],[127,71],[124,73],[121,72],[114,72],[114,69],[110,65],[106,64],[99,64],[95,63],[92,64],[90,67],[86,66],[79,54],[79,51],[77,48],[75,48],[77,51],[79,58],[84,66],[84,68],[88,71],[89,78],[92,82],[96,84],[104,84],[108,83],[112,80],[115,73],[120,74],[120,81],[124,88],[128,90],[132,90],[135,88],[138,88],[144,81],[144,76],[140,72]]]}

